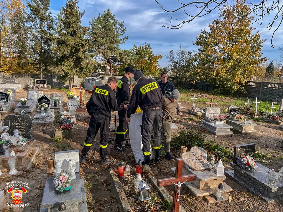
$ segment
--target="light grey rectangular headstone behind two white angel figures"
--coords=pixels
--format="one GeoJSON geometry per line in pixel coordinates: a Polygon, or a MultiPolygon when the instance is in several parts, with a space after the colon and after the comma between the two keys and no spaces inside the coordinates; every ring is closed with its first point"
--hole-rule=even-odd
{"type": "Polygon", "coordinates": [[[69,150],[62,152],[55,152],[55,161],[59,160],[62,164],[62,173],[66,173],[69,160],[72,159],[75,165],[75,172],[80,172],[80,158],[79,150],[69,150]]]}

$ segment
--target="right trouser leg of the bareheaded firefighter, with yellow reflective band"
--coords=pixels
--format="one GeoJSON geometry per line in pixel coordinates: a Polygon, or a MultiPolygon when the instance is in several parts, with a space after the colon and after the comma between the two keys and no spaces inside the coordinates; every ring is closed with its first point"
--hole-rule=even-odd
{"type": "Polygon", "coordinates": [[[104,116],[104,119],[101,120],[100,127],[100,159],[106,158],[107,144],[109,138],[109,125],[110,117],[104,116]]]}

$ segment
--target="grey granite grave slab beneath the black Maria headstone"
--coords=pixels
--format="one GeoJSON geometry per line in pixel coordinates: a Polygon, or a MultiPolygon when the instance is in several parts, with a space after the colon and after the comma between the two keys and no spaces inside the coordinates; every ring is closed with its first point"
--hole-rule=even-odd
{"type": "MultiPolygon", "coordinates": [[[[276,185],[270,185],[267,182],[270,169],[259,163],[256,165],[258,168],[255,171],[244,170],[235,165],[234,170],[225,171],[225,174],[252,193],[261,195],[261,198],[267,202],[283,199],[283,182],[277,180],[276,185]]],[[[278,178],[279,174],[276,175],[278,178]]]]}

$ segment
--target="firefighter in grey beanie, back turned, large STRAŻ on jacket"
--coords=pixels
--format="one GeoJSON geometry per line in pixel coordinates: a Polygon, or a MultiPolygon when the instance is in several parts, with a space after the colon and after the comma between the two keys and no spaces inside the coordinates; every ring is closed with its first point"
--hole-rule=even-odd
{"type": "Polygon", "coordinates": [[[144,154],[144,164],[150,165],[150,135],[152,128],[154,132],[155,161],[160,162],[163,95],[157,81],[145,78],[141,70],[137,69],[134,72],[134,79],[137,84],[132,91],[126,121],[130,122],[130,117],[136,112],[138,106],[143,110],[141,122],[142,153],[144,154]]]}

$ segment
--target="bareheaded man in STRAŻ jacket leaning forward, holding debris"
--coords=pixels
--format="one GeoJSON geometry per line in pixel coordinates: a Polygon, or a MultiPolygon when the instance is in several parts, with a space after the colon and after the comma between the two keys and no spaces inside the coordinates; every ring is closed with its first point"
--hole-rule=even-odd
{"type": "Polygon", "coordinates": [[[86,133],[85,143],[81,151],[80,163],[85,163],[88,150],[91,148],[92,142],[100,128],[100,163],[107,165],[112,163],[112,160],[106,159],[106,148],[109,138],[109,126],[111,120],[111,110],[120,111],[128,106],[118,106],[116,94],[113,89],[116,89],[118,79],[109,77],[107,83],[98,86],[93,90],[90,100],[86,103],[88,114],[91,116],[89,120],[88,131],[86,133]]]}

